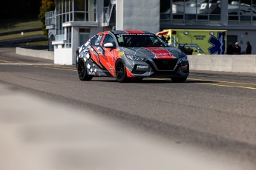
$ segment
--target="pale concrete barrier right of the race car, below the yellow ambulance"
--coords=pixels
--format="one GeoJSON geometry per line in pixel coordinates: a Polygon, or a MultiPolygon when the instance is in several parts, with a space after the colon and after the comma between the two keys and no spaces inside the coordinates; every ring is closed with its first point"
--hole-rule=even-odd
{"type": "Polygon", "coordinates": [[[256,73],[256,55],[189,55],[194,70],[256,73]]]}

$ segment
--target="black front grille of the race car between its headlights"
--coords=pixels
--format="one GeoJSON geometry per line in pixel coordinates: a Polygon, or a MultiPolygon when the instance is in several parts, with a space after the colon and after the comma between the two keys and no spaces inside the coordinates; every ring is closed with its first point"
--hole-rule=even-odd
{"type": "Polygon", "coordinates": [[[172,71],[174,70],[176,64],[177,64],[177,59],[154,59],[154,64],[156,64],[156,67],[158,70],[163,71],[163,70],[168,70],[172,71]]]}

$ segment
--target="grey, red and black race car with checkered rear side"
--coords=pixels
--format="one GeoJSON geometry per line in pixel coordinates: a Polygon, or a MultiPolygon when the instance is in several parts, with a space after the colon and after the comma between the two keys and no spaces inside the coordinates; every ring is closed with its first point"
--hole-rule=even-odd
{"type": "Polygon", "coordinates": [[[154,33],[140,30],[111,30],[94,35],[77,48],[76,69],[81,81],[109,76],[120,83],[142,78],[184,82],[189,75],[185,53],[168,47],[154,33]]]}

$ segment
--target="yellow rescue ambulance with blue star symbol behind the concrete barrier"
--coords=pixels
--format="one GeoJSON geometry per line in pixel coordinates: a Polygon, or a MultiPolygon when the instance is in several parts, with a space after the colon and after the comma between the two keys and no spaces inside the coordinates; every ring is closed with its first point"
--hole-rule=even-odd
{"type": "Polygon", "coordinates": [[[168,43],[174,47],[192,49],[192,55],[225,54],[226,30],[163,30],[157,35],[169,39],[168,43]],[[169,38],[168,38],[169,37],[169,38]]]}

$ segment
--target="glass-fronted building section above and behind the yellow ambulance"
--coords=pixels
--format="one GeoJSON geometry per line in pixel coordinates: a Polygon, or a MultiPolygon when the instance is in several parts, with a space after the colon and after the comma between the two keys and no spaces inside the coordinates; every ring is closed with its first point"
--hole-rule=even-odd
{"type": "Polygon", "coordinates": [[[160,30],[227,30],[227,42],[246,41],[256,53],[256,0],[160,0],[160,30]],[[254,48],[255,47],[255,48],[254,48]]]}

